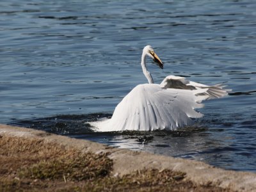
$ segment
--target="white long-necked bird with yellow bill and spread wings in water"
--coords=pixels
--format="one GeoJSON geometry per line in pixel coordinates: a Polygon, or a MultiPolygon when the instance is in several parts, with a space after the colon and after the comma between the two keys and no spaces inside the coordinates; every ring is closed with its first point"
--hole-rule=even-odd
{"type": "Polygon", "coordinates": [[[204,116],[194,110],[204,106],[200,103],[202,100],[220,98],[229,91],[224,90],[222,84],[208,86],[179,76],[167,76],[161,84],[154,84],[147,70],[146,56],[163,68],[154,49],[150,45],[144,47],[141,67],[148,84],[138,84],[133,88],[116,106],[110,119],[91,122],[98,131],[177,130],[193,124],[191,118],[204,116]]]}

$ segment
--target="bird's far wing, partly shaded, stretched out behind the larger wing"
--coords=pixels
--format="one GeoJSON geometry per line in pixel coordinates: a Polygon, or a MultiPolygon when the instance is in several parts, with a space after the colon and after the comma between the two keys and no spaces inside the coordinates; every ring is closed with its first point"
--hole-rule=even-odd
{"type": "Polygon", "coordinates": [[[223,84],[215,85],[205,85],[201,83],[196,83],[193,81],[188,81],[184,77],[179,76],[167,76],[164,78],[163,82],[160,84],[162,88],[175,88],[182,90],[202,90],[207,88],[207,92],[200,93],[200,95],[209,95],[207,99],[216,99],[224,97],[231,90],[223,89],[225,86],[223,84]]]}

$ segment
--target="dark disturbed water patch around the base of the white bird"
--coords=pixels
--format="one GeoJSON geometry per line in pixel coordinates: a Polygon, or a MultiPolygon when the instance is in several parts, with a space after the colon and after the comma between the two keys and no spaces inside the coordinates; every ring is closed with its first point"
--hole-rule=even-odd
{"type": "MultiPolygon", "coordinates": [[[[122,137],[122,140],[136,140],[138,144],[147,144],[157,138],[170,137],[189,137],[193,134],[205,132],[207,128],[203,127],[185,127],[179,131],[112,131],[97,132],[93,130],[90,122],[97,121],[100,118],[110,118],[108,113],[93,113],[88,115],[57,115],[46,118],[35,118],[32,120],[15,120],[9,125],[19,127],[28,127],[31,129],[42,130],[53,134],[70,136],[72,138],[88,139],[102,142],[102,137],[108,140],[122,137]]],[[[166,147],[165,145],[157,145],[157,147],[166,147]]]]}

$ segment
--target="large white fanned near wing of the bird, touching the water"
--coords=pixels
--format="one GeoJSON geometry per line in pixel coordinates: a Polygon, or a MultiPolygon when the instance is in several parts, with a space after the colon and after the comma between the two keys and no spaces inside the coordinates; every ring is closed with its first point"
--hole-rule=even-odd
{"type": "Polygon", "coordinates": [[[175,130],[192,124],[190,118],[203,116],[194,109],[204,106],[200,102],[209,96],[199,94],[206,91],[139,84],[116,106],[111,119],[93,122],[92,125],[99,131],[175,130]]]}

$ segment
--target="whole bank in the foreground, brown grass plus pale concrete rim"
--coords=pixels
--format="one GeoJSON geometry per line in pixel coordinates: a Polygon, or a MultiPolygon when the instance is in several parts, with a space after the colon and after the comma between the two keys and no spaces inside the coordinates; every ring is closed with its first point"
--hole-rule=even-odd
{"type": "Polygon", "coordinates": [[[256,174],[0,125],[0,191],[255,191],[256,174]]]}

